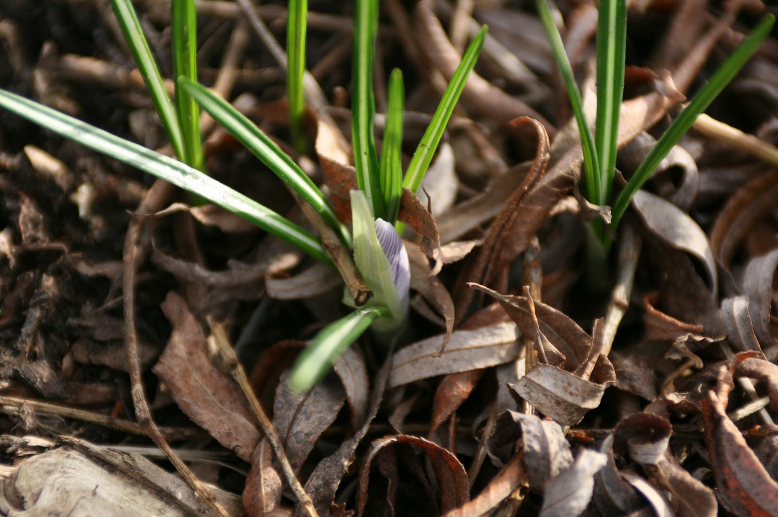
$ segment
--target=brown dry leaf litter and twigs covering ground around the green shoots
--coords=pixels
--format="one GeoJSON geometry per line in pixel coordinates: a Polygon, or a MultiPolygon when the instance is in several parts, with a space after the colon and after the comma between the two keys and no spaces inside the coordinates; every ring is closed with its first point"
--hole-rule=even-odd
{"type": "MultiPolygon", "coordinates": [[[[628,3],[625,178],[684,96],[775,12],[628,3]]],[[[408,152],[463,42],[480,23],[489,36],[435,176],[403,197],[405,336],[389,350],[363,337],[304,395],[286,376],[344,313],[338,276],[3,113],[0,511],[778,515],[776,39],[661,163],[597,262],[584,220],[603,212],[580,196],[578,133],[531,4],[381,2],[377,78],[391,66],[412,78],[408,152]],[[74,469],[81,482],[59,474],[74,469]]],[[[596,9],[558,7],[594,113],[596,9]]],[[[285,5],[198,2],[202,79],[347,219],[352,12],[310,9],[321,92],[309,93],[309,155],[288,143],[283,71],[257,33],[265,23],[282,40],[285,5]]],[[[169,6],[138,10],[166,55],[169,6]]],[[[0,86],[164,148],[106,2],[9,2],[0,27],[0,86]]],[[[203,126],[219,180],[303,222],[267,169],[203,126]]]]}

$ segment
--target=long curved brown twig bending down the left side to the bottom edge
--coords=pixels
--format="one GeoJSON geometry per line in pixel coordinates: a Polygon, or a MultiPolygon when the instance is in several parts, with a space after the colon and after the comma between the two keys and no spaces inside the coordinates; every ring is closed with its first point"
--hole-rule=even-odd
{"type": "MultiPolygon", "coordinates": [[[[163,208],[166,200],[173,193],[173,185],[163,180],[156,182],[149,189],[148,194],[138,206],[138,213],[149,214],[163,208]]],[[[226,510],[219,505],[216,497],[205,484],[189,470],[189,467],[176,455],[173,448],[167,443],[162,432],[152,419],[149,404],[146,402],[143,380],[141,378],[141,365],[138,360],[138,330],[135,326],[135,274],[138,266],[148,251],[148,236],[146,235],[147,218],[135,218],[131,220],[127,236],[124,239],[124,345],[127,352],[127,366],[131,383],[132,403],[135,405],[135,417],[138,424],[145,428],[152,442],[165,453],[170,463],[184,477],[195,494],[205,502],[212,511],[220,517],[229,517],[226,510]]]]}

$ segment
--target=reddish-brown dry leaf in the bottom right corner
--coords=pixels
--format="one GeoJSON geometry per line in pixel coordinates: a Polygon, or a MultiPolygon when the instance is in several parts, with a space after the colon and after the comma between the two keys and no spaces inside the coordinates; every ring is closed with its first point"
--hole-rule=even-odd
{"type": "Polygon", "coordinates": [[[717,394],[710,391],[702,407],[705,439],[721,503],[742,517],[778,515],[778,484],[727,417],[717,394]]]}

